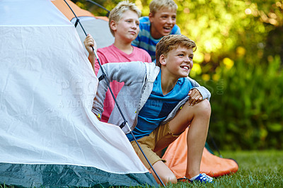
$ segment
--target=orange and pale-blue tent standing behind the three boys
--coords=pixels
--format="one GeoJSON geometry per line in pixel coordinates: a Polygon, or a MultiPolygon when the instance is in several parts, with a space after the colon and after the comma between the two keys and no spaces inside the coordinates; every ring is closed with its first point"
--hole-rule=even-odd
{"type": "MultiPolygon", "coordinates": [[[[93,35],[98,47],[105,47],[112,44],[114,39],[108,27],[108,18],[93,16],[92,13],[79,8],[79,6],[76,6],[73,2],[69,0],[66,1],[76,13],[83,28],[85,28],[86,33],[91,33],[91,35],[93,35]]],[[[71,12],[70,8],[63,0],[54,0],[52,3],[57,6],[57,8],[62,11],[72,23],[76,22],[74,13],[71,12]]],[[[79,25],[76,27],[76,30],[83,42],[85,38],[83,30],[79,25]]],[[[163,155],[163,159],[167,160],[166,165],[168,165],[178,178],[184,177],[185,167],[187,165],[186,136],[187,130],[180,136],[180,138],[168,146],[163,155]]],[[[204,148],[200,170],[212,177],[219,177],[221,175],[229,175],[233,172],[237,172],[238,163],[232,159],[220,158],[210,153],[207,148],[204,148]]]]}

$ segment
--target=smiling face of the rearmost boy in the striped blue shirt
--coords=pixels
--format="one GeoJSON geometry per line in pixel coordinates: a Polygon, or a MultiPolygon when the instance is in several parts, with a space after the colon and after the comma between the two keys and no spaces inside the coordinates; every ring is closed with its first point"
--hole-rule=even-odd
{"type": "Polygon", "coordinates": [[[151,36],[155,39],[167,36],[176,24],[176,11],[173,8],[164,7],[156,11],[154,15],[149,13],[151,22],[151,36]]]}

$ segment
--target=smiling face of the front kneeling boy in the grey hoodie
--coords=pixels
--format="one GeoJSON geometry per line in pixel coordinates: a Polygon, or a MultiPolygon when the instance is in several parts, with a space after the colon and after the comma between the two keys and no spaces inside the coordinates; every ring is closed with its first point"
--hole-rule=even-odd
{"type": "Polygon", "coordinates": [[[166,56],[161,54],[161,69],[162,71],[166,71],[167,76],[171,76],[172,78],[187,77],[192,70],[193,57],[192,48],[177,47],[169,51],[166,56]]]}

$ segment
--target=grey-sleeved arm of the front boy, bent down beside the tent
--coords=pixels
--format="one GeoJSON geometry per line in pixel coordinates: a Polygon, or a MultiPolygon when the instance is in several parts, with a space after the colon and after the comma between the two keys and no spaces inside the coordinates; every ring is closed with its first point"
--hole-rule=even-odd
{"type": "MultiPolygon", "coordinates": [[[[125,85],[130,85],[138,82],[143,82],[146,74],[146,66],[141,61],[132,61],[125,63],[108,63],[103,64],[103,70],[108,77],[108,81],[124,82],[125,85]]],[[[101,69],[98,71],[97,77],[102,75],[101,69]]],[[[93,100],[92,112],[97,117],[101,118],[103,113],[103,102],[105,99],[105,93],[108,90],[108,85],[103,78],[97,88],[96,98],[93,100]]]]}

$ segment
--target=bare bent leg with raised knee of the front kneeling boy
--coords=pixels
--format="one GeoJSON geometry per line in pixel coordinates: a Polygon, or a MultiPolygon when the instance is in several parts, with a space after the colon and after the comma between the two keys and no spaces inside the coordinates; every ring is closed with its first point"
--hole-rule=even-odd
{"type": "MultiPolygon", "coordinates": [[[[185,131],[188,125],[190,125],[190,129],[187,133],[188,150],[187,170],[185,174],[185,177],[187,178],[200,174],[200,162],[202,160],[204,144],[207,139],[210,114],[211,107],[208,100],[202,100],[202,102],[199,102],[194,106],[190,106],[186,102],[183,108],[178,111],[175,117],[168,124],[174,135],[181,134],[185,131]]],[[[158,143],[156,143],[156,148],[163,148],[164,146],[162,145],[163,141],[158,141],[158,143]]],[[[161,172],[162,170],[163,169],[161,169],[161,172]]]]}

